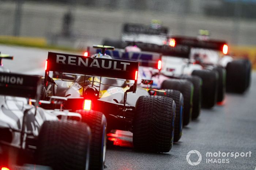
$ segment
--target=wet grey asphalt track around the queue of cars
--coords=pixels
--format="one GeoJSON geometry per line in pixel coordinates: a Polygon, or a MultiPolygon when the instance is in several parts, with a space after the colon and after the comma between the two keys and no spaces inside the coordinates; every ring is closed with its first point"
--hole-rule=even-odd
{"type": "MultiPolygon", "coordinates": [[[[0,45],[13,61],[3,60],[12,72],[42,74],[47,50],[0,45]]],[[[52,50],[54,51],[54,50],[52,50]]],[[[224,106],[202,110],[199,119],[183,130],[183,136],[165,154],[140,153],[128,147],[110,145],[106,153],[107,169],[256,169],[256,72],[251,88],[243,95],[227,94],[224,106]],[[190,150],[202,154],[199,165],[186,161],[190,150]],[[251,157],[229,157],[229,163],[206,163],[207,152],[249,152],[251,157]]],[[[213,157],[215,158],[215,157],[213,157]]],[[[227,158],[227,157],[225,157],[227,158]]],[[[192,154],[192,162],[198,157],[192,154]]],[[[219,157],[216,157],[219,159],[219,157]]]]}

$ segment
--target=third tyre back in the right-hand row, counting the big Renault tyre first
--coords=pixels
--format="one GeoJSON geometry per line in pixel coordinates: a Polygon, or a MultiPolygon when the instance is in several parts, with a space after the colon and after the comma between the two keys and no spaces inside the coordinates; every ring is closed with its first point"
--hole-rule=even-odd
{"type": "Polygon", "coordinates": [[[180,79],[168,79],[163,81],[162,89],[178,90],[184,97],[184,115],[183,126],[188,125],[192,118],[192,106],[193,106],[193,84],[188,80],[180,79]]]}

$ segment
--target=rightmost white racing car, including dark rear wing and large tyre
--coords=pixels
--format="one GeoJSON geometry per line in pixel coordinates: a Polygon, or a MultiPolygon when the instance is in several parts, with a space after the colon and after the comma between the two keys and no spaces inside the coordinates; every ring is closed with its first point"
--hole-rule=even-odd
{"type": "Polygon", "coordinates": [[[251,62],[248,59],[229,56],[225,41],[210,40],[209,33],[200,34],[197,38],[172,36],[171,39],[178,45],[191,47],[191,60],[196,64],[203,68],[212,67],[218,72],[218,102],[224,99],[225,88],[229,92],[238,93],[248,89],[251,81],[251,62]]]}

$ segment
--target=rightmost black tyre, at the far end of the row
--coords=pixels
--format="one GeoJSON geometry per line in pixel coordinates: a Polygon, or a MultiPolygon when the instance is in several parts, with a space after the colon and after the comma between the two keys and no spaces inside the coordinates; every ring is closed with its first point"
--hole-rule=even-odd
{"type": "Polygon", "coordinates": [[[251,62],[240,59],[227,63],[227,91],[243,93],[251,82],[251,62]]]}

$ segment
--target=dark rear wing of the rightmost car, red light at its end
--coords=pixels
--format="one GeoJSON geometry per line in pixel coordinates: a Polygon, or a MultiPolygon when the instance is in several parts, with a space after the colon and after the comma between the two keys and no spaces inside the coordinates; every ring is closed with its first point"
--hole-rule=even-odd
{"type": "Polygon", "coordinates": [[[211,50],[222,51],[223,54],[227,54],[227,42],[219,40],[199,40],[195,37],[186,36],[171,36],[174,39],[176,46],[188,46],[191,48],[207,48],[211,50]]]}

